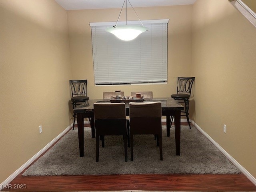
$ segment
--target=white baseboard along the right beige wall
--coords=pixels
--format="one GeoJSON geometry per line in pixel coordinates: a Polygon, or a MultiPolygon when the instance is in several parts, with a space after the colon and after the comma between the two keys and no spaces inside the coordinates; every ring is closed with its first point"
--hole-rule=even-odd
{"type": "Polygon", "coordinates": [[[196,124],[194,121],[191,121],[191,123],[206,137],[214,146],[220,150],[226,156],[254,185],[256,185],[256,178],[252,176],[242,165],[240,165],[228,152],[226,152],[216,141],[214,141],[198,124],[196,124]]]}

